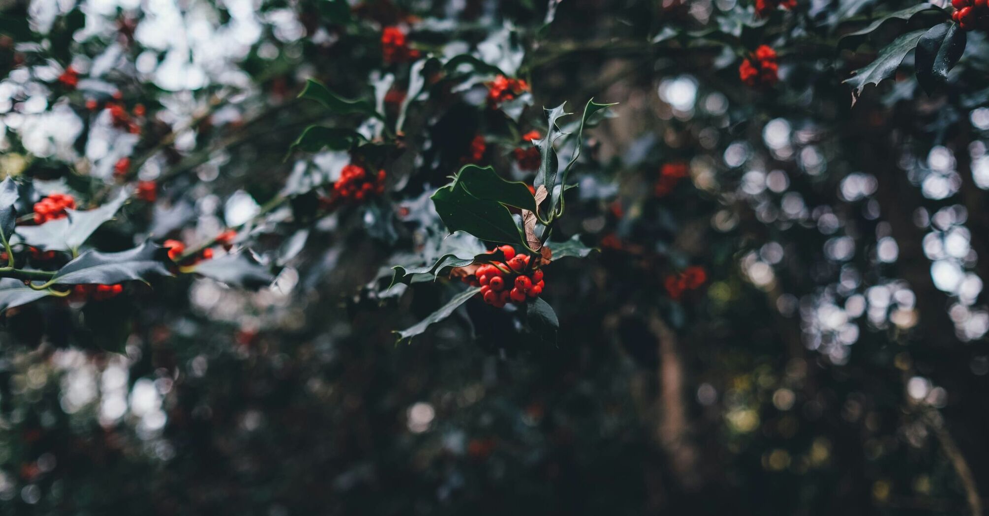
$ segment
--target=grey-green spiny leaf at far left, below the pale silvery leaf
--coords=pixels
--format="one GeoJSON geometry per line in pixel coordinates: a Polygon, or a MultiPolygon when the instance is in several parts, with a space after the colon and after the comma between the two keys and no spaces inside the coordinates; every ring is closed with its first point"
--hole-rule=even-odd
{"type": "Polygon", "coordinates": [[[89,250],[65,264],[51,281],[58,285],[114,285],[127,281],[147,283],[151,276],[171,276],[168,250],[150,242],[118,253],[89,250]]]}

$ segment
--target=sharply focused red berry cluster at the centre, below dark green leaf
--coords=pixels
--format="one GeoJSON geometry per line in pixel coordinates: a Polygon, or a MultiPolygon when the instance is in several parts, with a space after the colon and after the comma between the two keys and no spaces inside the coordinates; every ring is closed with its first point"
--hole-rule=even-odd
{"type": "Polygon", "coordinates": [[[502,245],[498,249],[504,253],[506,261],[481,265],[473,276],[464,276],[462,281],[481,287],[479,296],[497,308],[508,302],[538,298],[546,286],[543,271],[533,267],[529,255],[516,254],[515,248],[510,245],[502,245]]]}

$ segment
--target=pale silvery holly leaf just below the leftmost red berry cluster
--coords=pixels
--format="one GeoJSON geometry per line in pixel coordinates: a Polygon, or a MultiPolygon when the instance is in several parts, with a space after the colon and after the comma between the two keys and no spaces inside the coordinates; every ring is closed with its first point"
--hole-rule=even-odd
{"type": "Polygon", "coordinates": [[[94,210],[66,210],[68,216],[50,220],[41,225],[22,225],[17,234],[24,243],[43,251],[70,251],[78,249],[96,229],[110,220],[128,201],[128,191],[121,190],[113,201],[94,210]]]}

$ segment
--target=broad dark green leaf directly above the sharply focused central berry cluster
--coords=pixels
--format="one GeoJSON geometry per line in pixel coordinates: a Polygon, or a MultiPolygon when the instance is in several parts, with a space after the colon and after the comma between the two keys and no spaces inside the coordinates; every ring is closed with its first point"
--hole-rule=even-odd
{"type": "Polygon", "coordinates": [[[451,233],[466,231],[482,240],[525,247],[508,209],[495,201],[478,199],[457,183],[437,190],[432,201],[451,233]]]}

